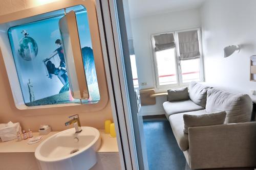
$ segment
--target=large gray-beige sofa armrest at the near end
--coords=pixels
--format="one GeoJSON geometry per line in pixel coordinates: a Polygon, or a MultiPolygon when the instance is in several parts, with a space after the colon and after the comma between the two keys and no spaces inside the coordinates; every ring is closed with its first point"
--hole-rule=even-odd
{"type": "Polygon", "coordinates": [[[191,168],[256,166],[256,122],[188,128],[191,168]]]}

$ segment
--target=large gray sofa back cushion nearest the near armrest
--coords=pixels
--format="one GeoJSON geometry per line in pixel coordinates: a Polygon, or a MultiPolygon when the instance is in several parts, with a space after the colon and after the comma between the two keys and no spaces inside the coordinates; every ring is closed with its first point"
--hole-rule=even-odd
{"type": "Polygon", "coordinates": [[[226,111],[225,124],[249,122],[252,100],[247,94],[234,94],[216,88],[207,91],[206,111],[226,111]]]}

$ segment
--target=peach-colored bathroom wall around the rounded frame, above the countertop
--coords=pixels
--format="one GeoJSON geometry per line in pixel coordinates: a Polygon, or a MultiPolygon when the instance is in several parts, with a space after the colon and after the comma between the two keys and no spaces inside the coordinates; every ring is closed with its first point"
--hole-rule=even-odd
{"type": "MultiPolygon", "coordinates": [[[[0,15],[31,8],[37,6],[40,2],[53,1],[56,0],[4,0],[3,2],[1,1],[0,15]]],[[[86,106],[18,110],[14,105],[13,96],[2,55],[0,55],[0,94],[0,123],[7,123],[9,121],[14,123],[19,122],[22,125],[22,128],[25,130],[30,128],[32,131],[38,131],[39,126],[43,124],[50,125],[54,131],[68,129],[70,127],[66,127],[65,122],[69,120],[68,116],[72,114],[79,114],[82,126],[91,126],[97,129],[103,129],[104,121],[106,119],[112,119],[110,102],[108,102],[103,110],[97,112],[88,112],[86,106]],[[25,116],[25,113],[34,114],[34,116],[25,116]]]]}

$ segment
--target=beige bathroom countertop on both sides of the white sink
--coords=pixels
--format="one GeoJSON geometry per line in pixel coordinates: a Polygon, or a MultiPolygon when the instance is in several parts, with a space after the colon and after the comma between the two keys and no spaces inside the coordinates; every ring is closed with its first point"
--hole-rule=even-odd
{"type": "MultiPolygon", "coordinates": [[[[116,138],[112,138],[109,134],[105,134],[104,130],[99,130],[99,132],[101,137],[101,146],[97,152],[118,152],[116,138]]],[[[16,139],[14,139],[6,142],[0,142],[0,153],[35,152],[35,149],[42,141],[56,133],[58,132],[50,132],[48,135],[42,135],[43,139],[35,144],[28,144],[28,139],[22,141],[16,141],[16,139]]],[[[33,136],[38,135],[38,132],[33,133],[33,136]]]]}

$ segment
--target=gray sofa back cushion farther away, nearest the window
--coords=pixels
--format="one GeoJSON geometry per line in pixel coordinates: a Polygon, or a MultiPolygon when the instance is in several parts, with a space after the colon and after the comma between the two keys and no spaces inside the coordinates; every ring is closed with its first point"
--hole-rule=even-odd
{"type": "Polygon", "coordinates": [[[207,90],[211,87],[204,86],[198,82],[190,82],[189,84],[189,98],[191,101],[205,108],[207,90]]]}

